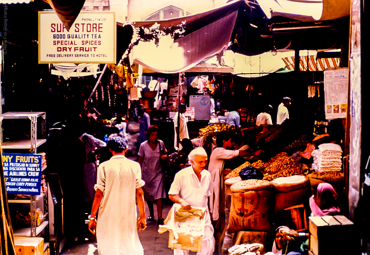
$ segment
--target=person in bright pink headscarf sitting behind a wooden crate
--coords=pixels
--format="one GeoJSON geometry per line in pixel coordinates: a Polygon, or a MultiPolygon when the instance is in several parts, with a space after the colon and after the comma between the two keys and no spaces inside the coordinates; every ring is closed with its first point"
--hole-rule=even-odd
{"type": "Polygon", "coordinates": [[[327,216],[340,214],[337,201],[338,194],[329,183],[319,183],[313,188],[313,195],[309,203],[313,216],[327,216]]]}

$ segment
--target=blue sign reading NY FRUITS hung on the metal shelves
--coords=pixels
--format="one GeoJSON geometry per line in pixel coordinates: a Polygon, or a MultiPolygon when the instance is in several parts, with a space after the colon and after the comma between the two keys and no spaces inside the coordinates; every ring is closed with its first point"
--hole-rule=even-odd
{"type": "Polygon", "coordinates": [[[40,195],[41,164],[40,154],[3,153],[7,193],[40,195]]]}

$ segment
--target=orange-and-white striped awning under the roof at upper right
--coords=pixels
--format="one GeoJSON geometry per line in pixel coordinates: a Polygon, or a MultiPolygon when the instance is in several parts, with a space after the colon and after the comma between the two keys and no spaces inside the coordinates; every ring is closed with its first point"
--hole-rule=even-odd
{"type": "MultiPolygon", "coordinates": [[[[312,56],[300,56],[299,70],[301,71],[323,71],[326,68],[338,68],[340,58],[316,58],[312,56]]],[[[286,67],[294,70],[294,56],[283,58],[286,67]]]]}

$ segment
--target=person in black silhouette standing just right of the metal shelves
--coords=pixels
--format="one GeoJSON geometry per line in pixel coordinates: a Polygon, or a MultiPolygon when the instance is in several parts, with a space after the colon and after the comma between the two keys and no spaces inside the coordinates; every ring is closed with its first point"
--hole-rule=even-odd
{"type": "MultiPolygon", "coordinates": [[[[51,173],[57,173],[63,191],[63,224],[67,242],[84,240],[86,234],[84,165],[86,150],[80,135],[81,117],[72,115],[61,130],[51,130],[48,137],[48,167],[51,173]],[[60,131],[60,136],[58,135],[60,131]],[[73,163],[65,167],[65,154],[73,155],[73,163]],[[71,178],[71,176],[73,176],[71,178]]],[[[90,210],[90,209],[88,209],[90,210]]]]}

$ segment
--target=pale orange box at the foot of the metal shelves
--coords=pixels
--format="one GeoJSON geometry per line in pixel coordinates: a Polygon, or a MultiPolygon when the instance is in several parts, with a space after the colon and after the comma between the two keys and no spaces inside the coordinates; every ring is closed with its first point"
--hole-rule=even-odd
{"type": "Polygon", "coordinates": [[[44,238],[14,237],[17,255],[44,255],[44,238]]]}

